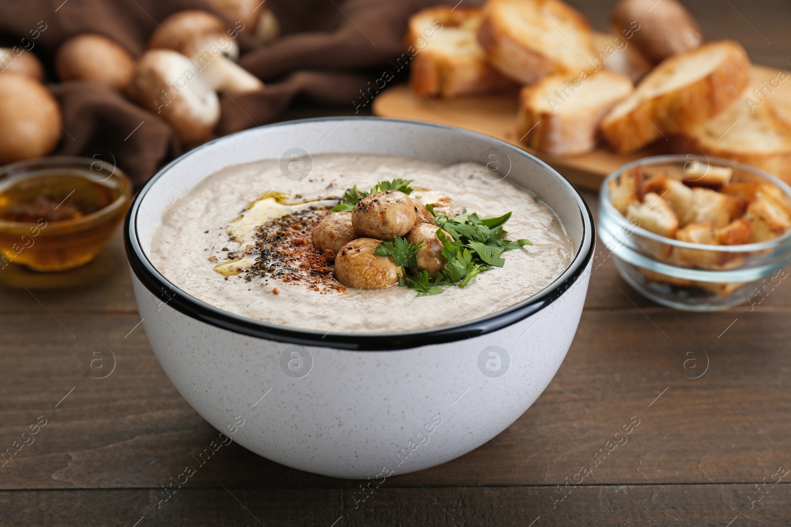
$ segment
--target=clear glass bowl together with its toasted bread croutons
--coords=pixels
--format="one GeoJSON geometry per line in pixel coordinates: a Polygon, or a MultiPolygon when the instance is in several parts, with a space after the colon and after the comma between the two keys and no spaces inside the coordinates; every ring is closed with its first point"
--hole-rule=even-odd
{"type": "Polygon", "coordinates": [[[755,306],[789,277],[791,187],[735,161],[647,157],[604,180],[599,232],[623,279],[657,303],[755,306]]]}

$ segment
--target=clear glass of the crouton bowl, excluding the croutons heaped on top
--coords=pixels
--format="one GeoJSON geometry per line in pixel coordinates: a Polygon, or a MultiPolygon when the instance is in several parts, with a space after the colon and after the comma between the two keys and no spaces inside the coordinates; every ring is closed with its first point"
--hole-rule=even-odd
{"type": "Polygon", "coordinates": [[[664,306],[721,311],[741,303],[755,306],[762,302],[789,275],[784,267],[791,263],[791,232],[742,245],[689,243],[649,232],[627,220],[611,203],[611,180],[635,168],[646,179],[663,172],[696,179],[720,167],[732,169],[730,183],[774,184],[786,208],[791,208],[791,187],[757,168],[713,157],[646,157],[614,171],[602,184],[599,234],[607,252],[597,258],[612,254],[621,277],[646,298],[664,306]]]}

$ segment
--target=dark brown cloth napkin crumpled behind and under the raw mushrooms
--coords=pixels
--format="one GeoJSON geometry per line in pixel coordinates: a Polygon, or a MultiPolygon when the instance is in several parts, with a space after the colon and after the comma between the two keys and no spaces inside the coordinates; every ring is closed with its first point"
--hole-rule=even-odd
{"type": "MultiPolygon", "coordinates": [[[[243,31],[237,42],[240,64],[267,89],[233,99],[221,96],[216,133],[272,122],[297,96],[318,104],[348,104],[354,111],[360,91],[403,53],[409,16],[440,3],[448,2],[266,0],[281,37],[260,46],[243,31]]],[[[38,56],[60,101],[64,133],[56,153],[100,157],[140,186],[162,164],[195,146],[180,144],[165,121],[117,92],[84,82],[56,84],[51,68],[59,45],[85,32],[107,36],[139,57],[157,23],[182,9],[220,14],[206,0],[0,0],[0,44],[20,45],[38,56]]]]}

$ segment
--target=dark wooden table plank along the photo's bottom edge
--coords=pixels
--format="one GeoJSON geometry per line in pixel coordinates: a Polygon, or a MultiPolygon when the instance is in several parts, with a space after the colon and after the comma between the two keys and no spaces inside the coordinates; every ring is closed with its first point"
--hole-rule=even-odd
{"type": "Polygon", "coordinates": [[[3,525],[788,525],[791,486],[626,485],[577,487],[387,487],[361,502],[343,489],[182,488],[167,502],[151,490],[0,492],[3,525]],[[355,507],[355,504],[357,505],[355,507]],[[556,505],[556,506],[555,506],[556,505]],[[554,506],[554,508],[553,508],[554,506]],[[393,518],[399,517],[395,523],[393,518]],[[535,521],[535,523],[531,523],[535,521]]]}

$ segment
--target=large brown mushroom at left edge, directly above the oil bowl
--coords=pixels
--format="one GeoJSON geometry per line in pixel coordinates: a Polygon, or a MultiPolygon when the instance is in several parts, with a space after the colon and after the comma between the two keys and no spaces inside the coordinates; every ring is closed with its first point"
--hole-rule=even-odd
{"type": "Polygon", "coordinates": [[[62,134],[60,107],[36,79],[0,75],[0,164],[46,156],[62,134]]]}

